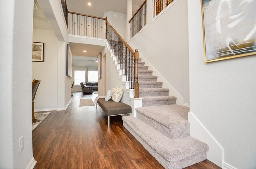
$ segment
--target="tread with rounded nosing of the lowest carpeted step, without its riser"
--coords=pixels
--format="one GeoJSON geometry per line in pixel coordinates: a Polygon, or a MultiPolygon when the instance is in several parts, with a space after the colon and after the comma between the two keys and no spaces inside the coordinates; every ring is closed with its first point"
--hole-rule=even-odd
{"type": "Polygon", "coordinates": [[[123,116],[122,120],[167,161],[179,161],[208,151],[206,143],[191,136],[170,139],[136,117],[123,116]]]}

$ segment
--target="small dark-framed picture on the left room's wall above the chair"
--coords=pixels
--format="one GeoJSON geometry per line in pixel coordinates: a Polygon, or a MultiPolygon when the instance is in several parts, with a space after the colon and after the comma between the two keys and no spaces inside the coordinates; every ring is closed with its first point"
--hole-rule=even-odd
{"type": "Polygon", "coordinates": [[[44,43],[33,42],[32,61],[33,62],[44,62],[44,43]]]}

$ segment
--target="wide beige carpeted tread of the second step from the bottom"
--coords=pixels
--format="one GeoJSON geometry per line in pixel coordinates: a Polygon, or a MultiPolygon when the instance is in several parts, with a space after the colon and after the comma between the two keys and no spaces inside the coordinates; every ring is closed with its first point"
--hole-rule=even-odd
{"type": "Polygon", "coordinates": [[[177,104],[163,106],[148,106],[135,109],[140,114],[168,127],[178,124],[189,124],[188,111],[189,108],[177,104]]]}

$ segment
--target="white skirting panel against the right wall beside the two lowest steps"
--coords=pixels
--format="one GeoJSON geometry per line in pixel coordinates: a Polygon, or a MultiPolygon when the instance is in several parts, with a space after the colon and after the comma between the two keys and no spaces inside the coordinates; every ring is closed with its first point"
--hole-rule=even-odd
{"type": "Polygon", "coordinates": [[[224,157],[223,148],[192,112],[188,112],[188,121],[190,123],[190,136],[208,144],[207,159],[222,167],[224,157]]]}

